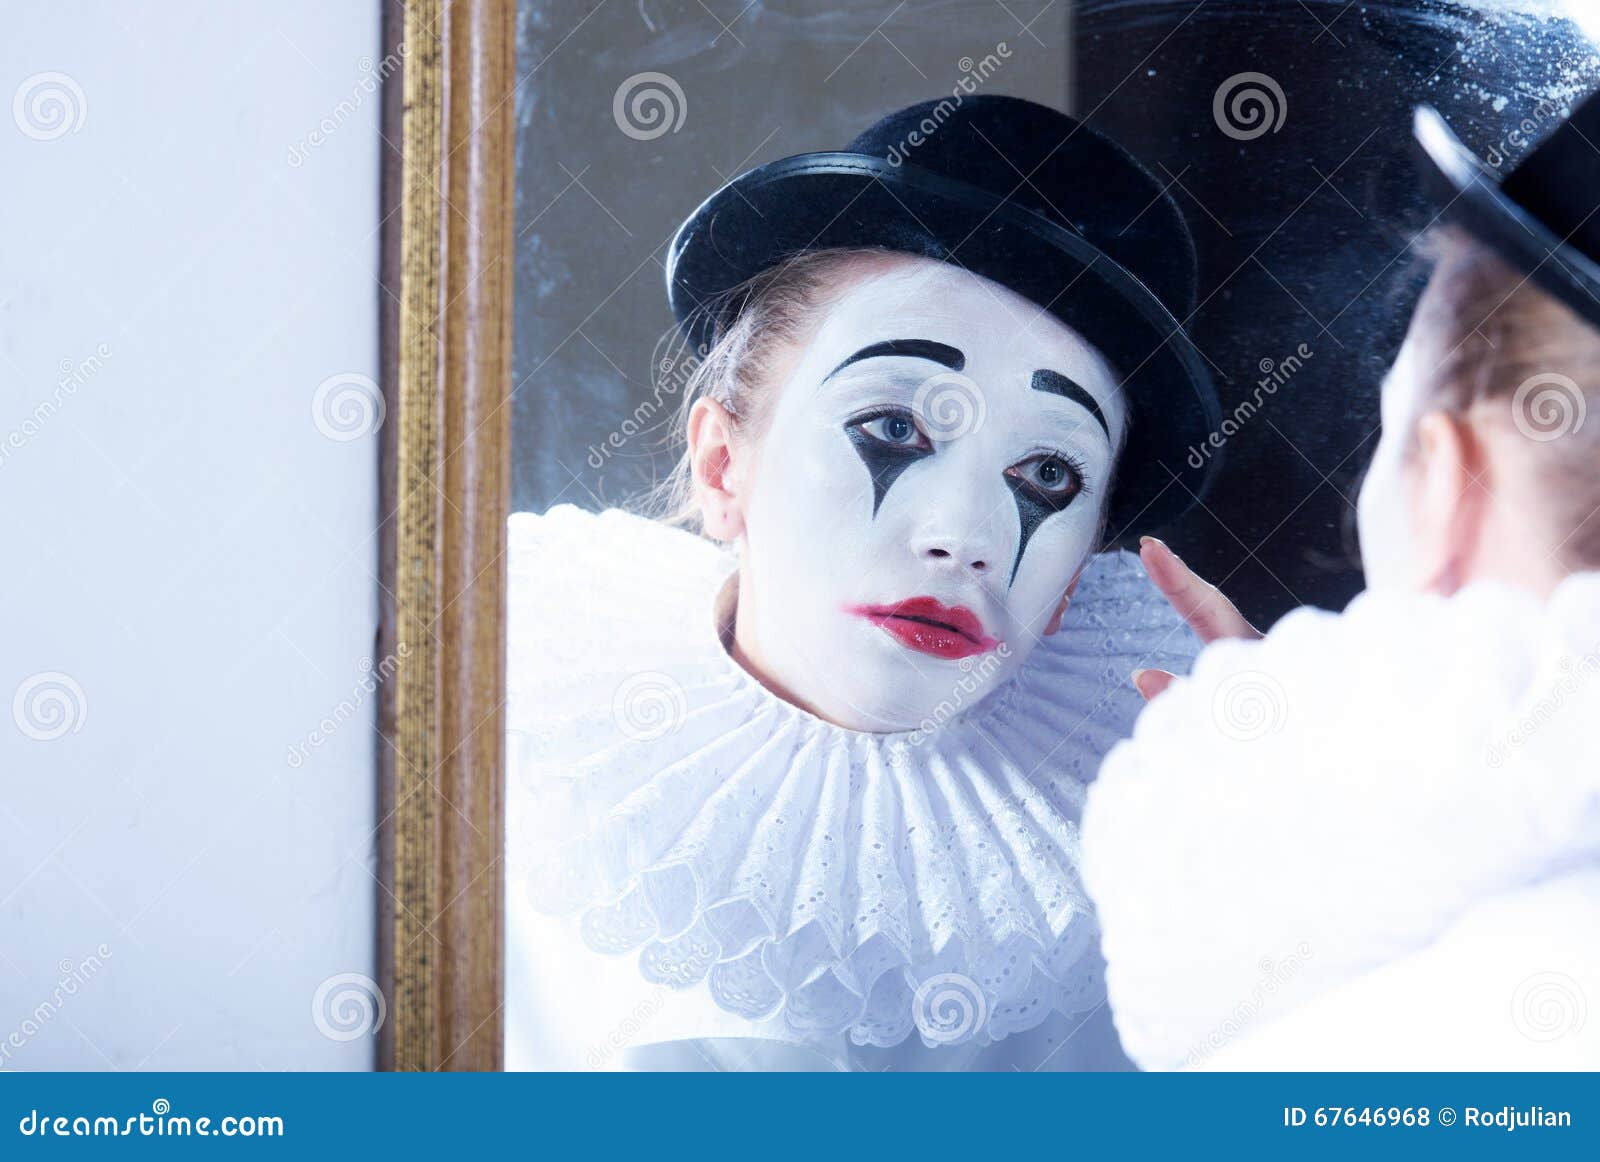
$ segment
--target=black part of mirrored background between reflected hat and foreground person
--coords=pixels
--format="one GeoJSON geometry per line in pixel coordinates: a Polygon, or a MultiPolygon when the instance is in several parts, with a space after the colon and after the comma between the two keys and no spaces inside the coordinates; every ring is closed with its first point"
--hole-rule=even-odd
{"type": "Polygon", "coordinates": [[[1205,509],[1168,536],[1256,624],[1362,587],[1355,496],[1424,275],[1411,243],[1434,216],[1411,173],[1411,110],[1435,106],[1485,162],[1515,165],[1600,86],[1594,45],[1547,18],[1558,8],[1078,0],[1077,114],[1170,182],[1200,250],[1190,333],[1222,411],[1261,400],[1227,437],[1205,509]],[[1282,101],[1253,78],[1229,91],[1264,93],[1256,112],[1270,102],[1277,130],[1238,98],[1229,136],[1214,98],[1246,72],[1282,101]]]}

